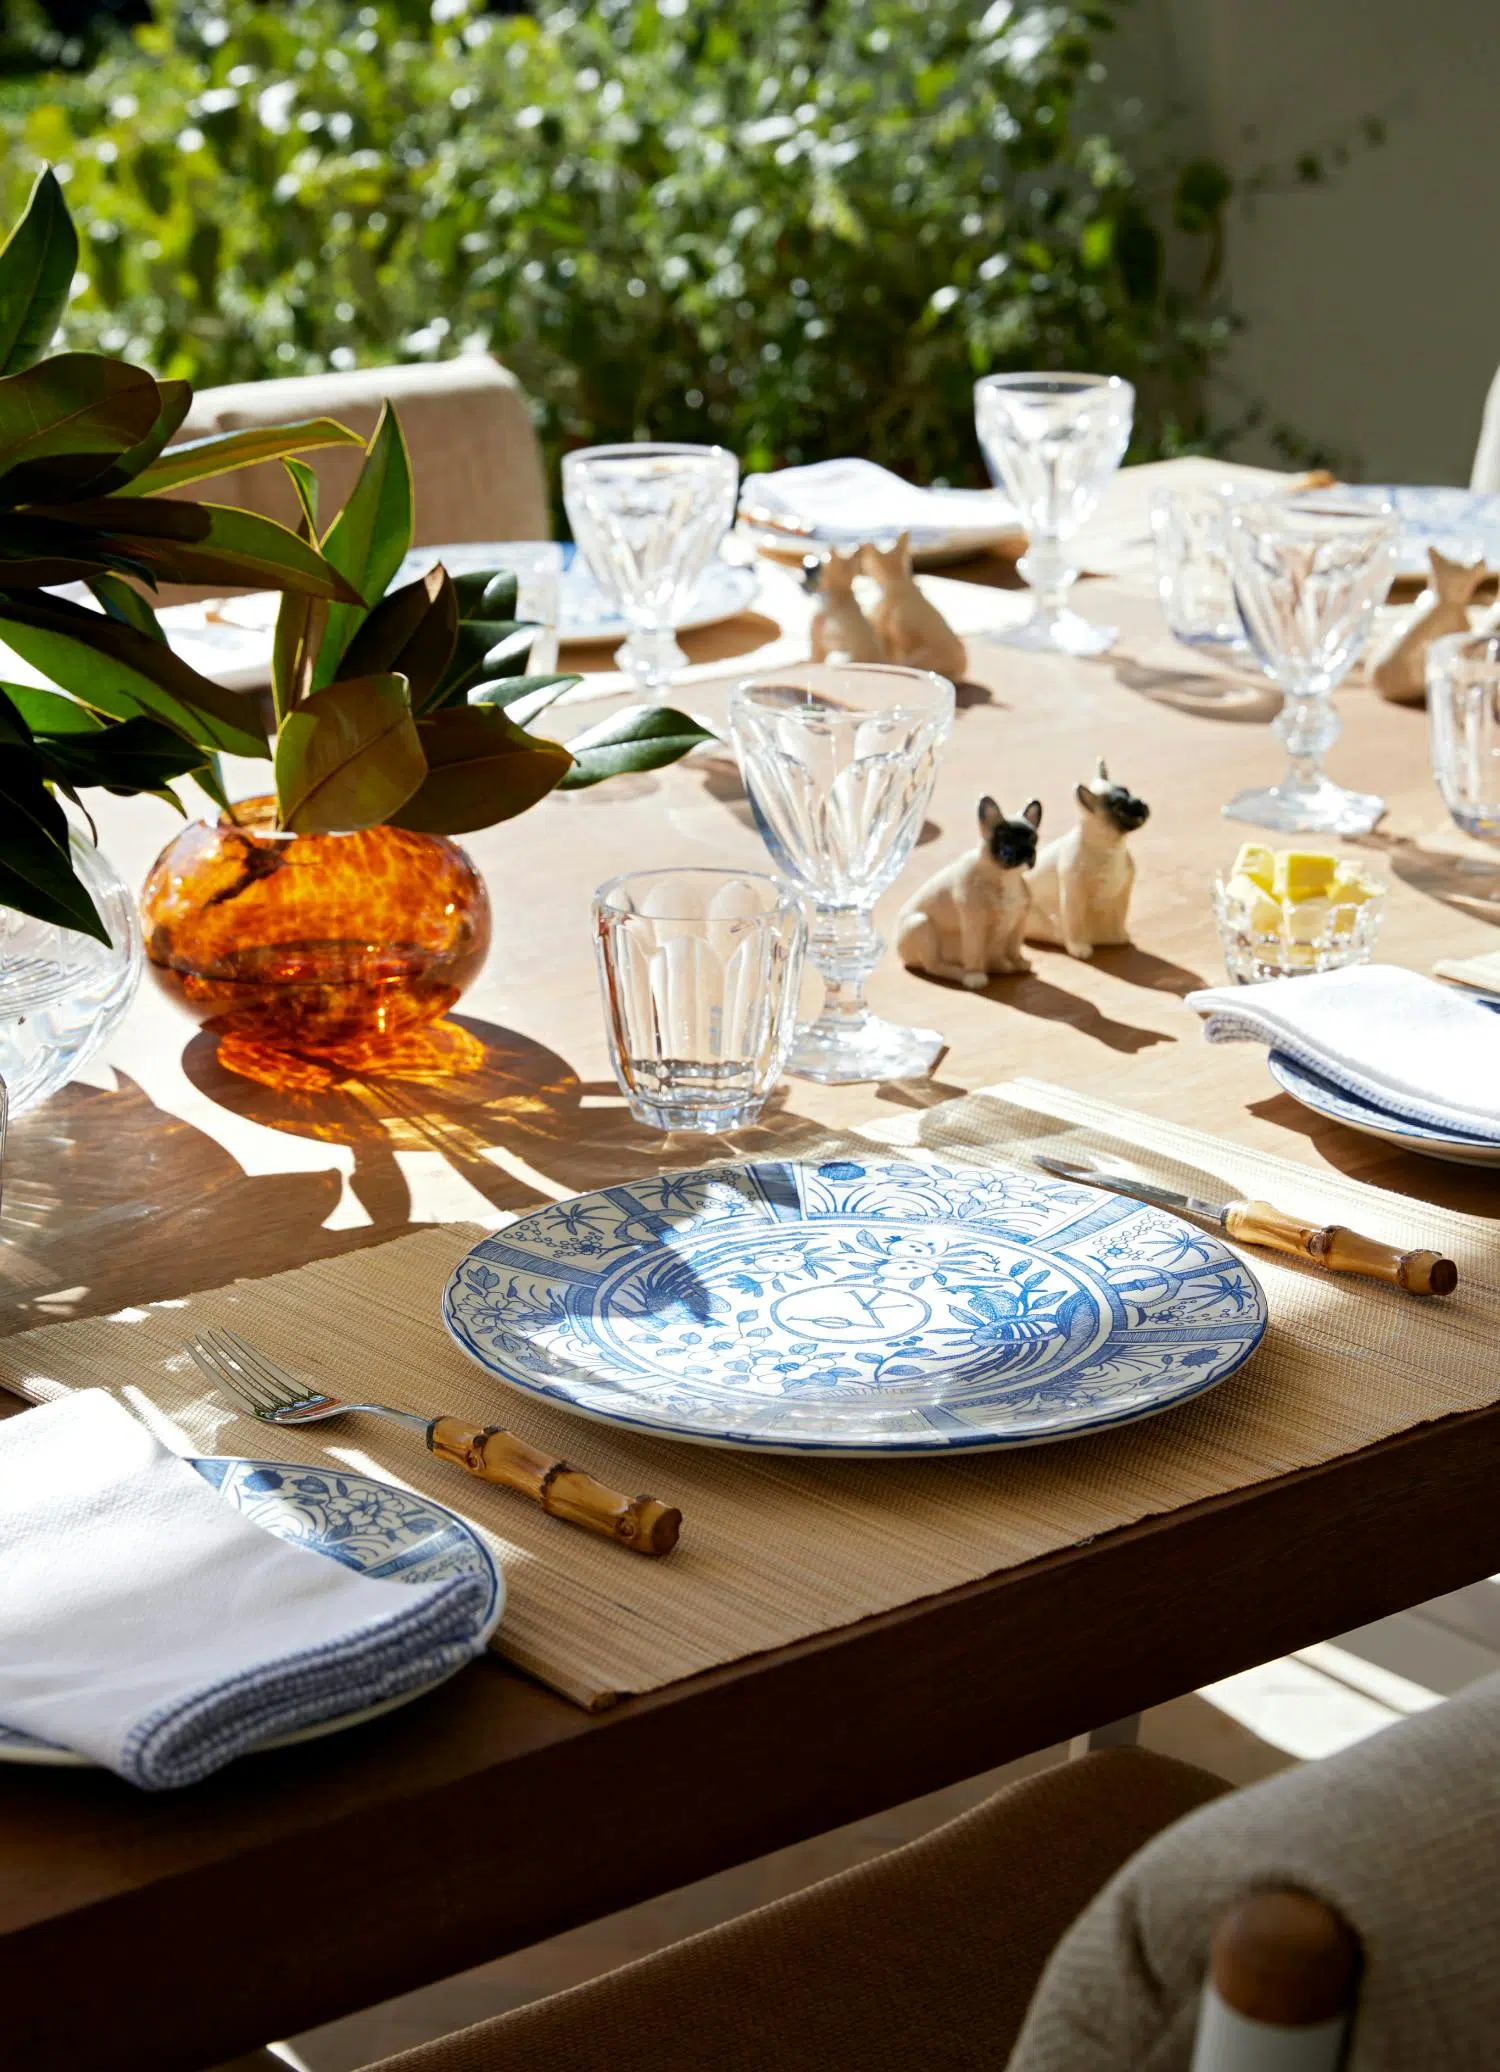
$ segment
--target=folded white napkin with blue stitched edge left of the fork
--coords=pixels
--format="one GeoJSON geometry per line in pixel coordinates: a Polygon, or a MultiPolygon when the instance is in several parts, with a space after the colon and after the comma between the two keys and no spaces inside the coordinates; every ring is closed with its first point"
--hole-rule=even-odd
{"type": "Polygon", "coordinates": [[[0,1724],[131,1784],[435,1682],[485,1604],[271,1537],[102,1388],[0,1421],[0,1724]]]}

